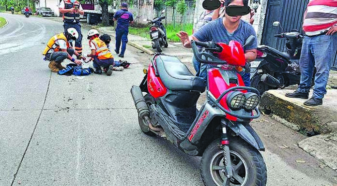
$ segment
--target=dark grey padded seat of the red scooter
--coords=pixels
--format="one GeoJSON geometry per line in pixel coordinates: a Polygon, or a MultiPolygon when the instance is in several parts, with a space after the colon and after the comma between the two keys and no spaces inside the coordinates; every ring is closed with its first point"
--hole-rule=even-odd
{"type": "Polygon", "coordinates": [[[194,76],[177,57],[160,55],[155,62],[160,79],[168,89],[205,91],[206,82],[194,76]]]}

